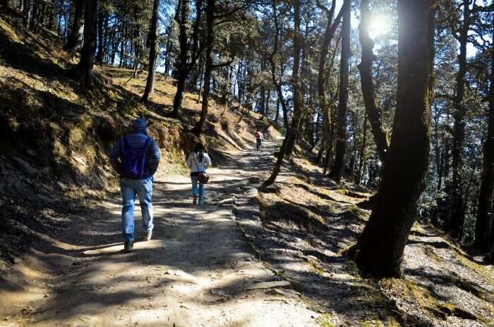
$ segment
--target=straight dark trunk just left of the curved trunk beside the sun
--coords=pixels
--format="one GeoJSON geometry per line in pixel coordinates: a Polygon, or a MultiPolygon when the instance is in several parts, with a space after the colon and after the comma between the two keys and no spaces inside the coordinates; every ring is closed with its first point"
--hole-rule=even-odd
{"type": "Polygon", "coordinates": [[[338,128],[336,137],[335,161],[330,177],[339,183],[342,180],[345,166],[345,152],[347,152],[347,103],[348,103],[348,75],[350,61],[350,19],[351,8],[345,6],[342,23],[342,56],[339,64],[339,102],[338,128]]]}

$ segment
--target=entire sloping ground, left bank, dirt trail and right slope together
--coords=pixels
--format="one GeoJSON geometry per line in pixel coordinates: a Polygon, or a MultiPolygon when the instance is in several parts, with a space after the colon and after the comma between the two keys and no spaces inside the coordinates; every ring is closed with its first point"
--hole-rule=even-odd
{"type": "Polygon", "coordinates": [[[282,135],[238,104],[211,101],[213,180],[191,206],[198,94],[169,118],[172,78],[158,75],[143,105],[145,74],[107,64],[87,91],[56,35],[20,26],[0,15],[0,326],[493,326],[493,266],[427,223],[412,228],[403,278],[362,276],[345,253],[375,191],[332,182],[301,148],[261,187],[282,135]],[[155,236],[124,254],[107,154],[135,117],[162,164],[155,236]]]}

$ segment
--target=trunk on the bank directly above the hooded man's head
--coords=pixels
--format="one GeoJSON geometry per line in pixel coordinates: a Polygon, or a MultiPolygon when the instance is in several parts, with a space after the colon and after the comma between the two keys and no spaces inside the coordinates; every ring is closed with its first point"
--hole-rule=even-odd
{"type": "Polygon", "coordinates": [[[155,0],[152,5],[152,17],[149,35],[147,36],[147,42],[149,42],[149,65],[147,67],[146,88],[144,90],[143,97],[140,98],[140,101],[144,103],[148,101],[149,96],[155,90],[155,73],[158,56],[158,8],[159,0],[155,0]]]}

